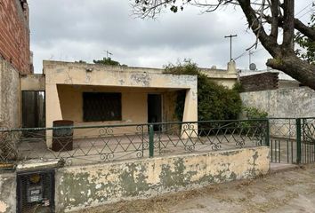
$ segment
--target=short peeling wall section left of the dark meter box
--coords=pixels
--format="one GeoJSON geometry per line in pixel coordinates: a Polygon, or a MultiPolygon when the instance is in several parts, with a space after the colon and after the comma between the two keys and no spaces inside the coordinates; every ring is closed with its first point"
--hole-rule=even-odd
{"type": "Polygon", "coordinates": [[[16,212],[16,175],[0,173],[0,212],[16,212]]]}

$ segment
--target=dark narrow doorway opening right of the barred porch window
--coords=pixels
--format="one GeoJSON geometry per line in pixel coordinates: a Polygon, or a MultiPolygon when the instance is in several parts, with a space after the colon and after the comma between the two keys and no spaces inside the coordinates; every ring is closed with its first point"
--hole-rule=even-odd
{"type": "MultiPolygon", "coordinates": [[[[162,96],[161,94],[148,94],[148,122],[162,122],[162,96]]],[[[160,130],[159,125],[154,125],[155,131],[160,130]]]]}

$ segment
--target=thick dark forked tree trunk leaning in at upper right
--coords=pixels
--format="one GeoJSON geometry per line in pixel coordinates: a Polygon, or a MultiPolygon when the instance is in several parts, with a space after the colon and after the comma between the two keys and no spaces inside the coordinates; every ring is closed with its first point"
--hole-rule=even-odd
{"type": "MultiPolygon", "coordinates": [[[[295,28],[294,19],[294,0],[287,0],[284,4],[285,22],[283,23],[283,43],[279,45],[277,43],[276,28],[278,28],[279,22],[273,17],[271,20],[271,35],[267,35],[263,25],[259,24],[259,20],[256,16],[254,9],[251,6],[250,0],[238,0],[240,7],[242,8],[249,27],[252,28],[255,36],[263,44],[263,47],[271,54],[273,59],[268,59],[267,66],[274,69],[279,69],[295,78],[295,80],[303,83],[305,86],[309,86],[312,90],[315,90],[315,66],[299,59],[293,50],[293,35],[295,28]],[[259,30],[257,30],[259,28],[259,30]],[[273,30],[272,30],[273,28],[273,30]]],[[[275,15],[275,12],[273,12],[275,15]]]]}

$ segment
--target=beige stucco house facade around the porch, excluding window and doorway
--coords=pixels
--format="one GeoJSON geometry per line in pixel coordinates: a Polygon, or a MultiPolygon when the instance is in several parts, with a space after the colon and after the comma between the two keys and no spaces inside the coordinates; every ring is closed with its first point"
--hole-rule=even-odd
{"type": "MultiPolygon", "coordinates": [[[[46,127],[55,120],[75,125],[110,125],[148,122],[148,94],[162,97],[162,122],[174,121],[176,91],[186,91],[182,122],[198,120],[197,76],[166,75],[137,67],[112,67],[44,61],[46,127]],[[121,93],[119,121],[84,122],[83,92],[121,93]]],[[[48,132],[48,138],[52,134],[48,132]]],[[[75,132],[76,134],[76,132],[75,132]]]]}

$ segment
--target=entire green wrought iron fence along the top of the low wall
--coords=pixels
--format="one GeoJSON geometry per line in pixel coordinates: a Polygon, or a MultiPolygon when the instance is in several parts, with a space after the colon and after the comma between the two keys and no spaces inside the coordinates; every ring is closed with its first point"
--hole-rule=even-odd
{"type": "Polygon", "coordinates": [[[0,162],[112,162],[269,145],[268,120],[161,122],[0,130],[0,162]]]}

